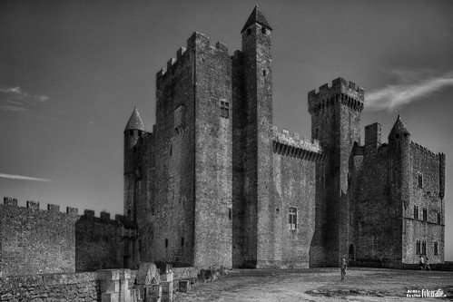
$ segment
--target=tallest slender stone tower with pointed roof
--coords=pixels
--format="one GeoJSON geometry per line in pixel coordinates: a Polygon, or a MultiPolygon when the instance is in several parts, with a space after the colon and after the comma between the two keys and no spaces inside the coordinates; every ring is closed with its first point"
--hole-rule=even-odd
{"type": "Polygon", "coordinates": [[[241,30],[247,112],[244,265],[260,268],[274,259],[272,183],[271,25],[258,5],[241,30]]]}

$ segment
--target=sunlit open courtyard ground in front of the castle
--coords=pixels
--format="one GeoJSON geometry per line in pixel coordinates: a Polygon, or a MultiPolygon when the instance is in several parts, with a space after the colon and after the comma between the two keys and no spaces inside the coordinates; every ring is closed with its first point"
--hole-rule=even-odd
{"type": "Polygon", "coordinates": [[[453,300],[453,272],[349,268],[233,269],[226,276],[198,283],[185,301],[442,301],[453,300]],[[407,297],[408,290],[442,289],[447,297],[407,297]]]}

